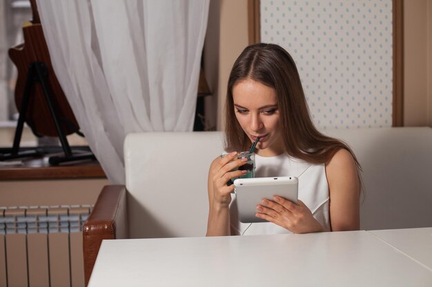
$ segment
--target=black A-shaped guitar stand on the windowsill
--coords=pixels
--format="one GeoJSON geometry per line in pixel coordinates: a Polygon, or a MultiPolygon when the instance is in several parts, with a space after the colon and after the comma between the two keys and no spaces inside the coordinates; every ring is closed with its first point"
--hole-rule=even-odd
{"type": "MultiPolygon", "coordinates": [[[[82,149],[78,149],[77,152],[72,153],[72,149],[70,149],[68,140],[63,133],[59,120],[59,116],[57,115],[54,106],[52,105],[51,95],[48,89],[48,68],[42,62],[32,62],[30,63],[30,67],[28,68],[28,74],[26,78],[26,86],[24,87],[23,100],[21,103],[21,110],[19,111],[19,119],[17,123],[17,129],[15,131],[14,143],[12,146],[12,151],[10,153],[0,154],[0,160],[10,160],[14,158],[24,158],[29,156],[43,156],[47,153],[46,150],[42,148],[35,148],[33,150],[25,150],[19,151],[19,143],[21,142],[21,136],[23,133],[24,122],[26,121],[26,114],[28,111],[28,103],[31,96],[32,85],[35,83],[39,83],[42,87],[43,96],[48,105],[48,109],[50,110],[51,118],[55,124],[55,129],[59,136],[59,140],[61,143],[61,147],[64,152],[64,156],[52,156],[48,159],[50,164],[58,165],[62,162],[72,162],[76,160],[96,160],[95,155],[89,151],[83,151],[82,149]]],[[[76,131],[78,134],[79,131],[76,131]]],[[[35,131],[33,131],[35,134],[35,131]]]]}

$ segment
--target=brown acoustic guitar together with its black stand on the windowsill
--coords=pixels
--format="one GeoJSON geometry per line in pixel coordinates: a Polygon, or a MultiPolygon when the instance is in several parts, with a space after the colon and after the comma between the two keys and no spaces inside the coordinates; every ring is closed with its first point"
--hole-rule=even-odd
{"type": "Polygon", "coordinates": [[[75,149],[75,154],[68,144],[66,136],[77,133],[79,125],[66,99],[63,89],[52,69],[50,54],[37,12],[36,0],[30,0],[32,21],[24,23],[24,43],[10,48],[9,56],[17,66],[18,78],[15,87],[15,103],[19,110],[19,119],[15,131],[12,152],[0,154],[0,160],[27,156],[42,156],[49,151],[19,151],[19,142],[24,122],[32,129],[35,136],[57,136],[61,142],[64,156],[51,156],[50,164],[60,164],[76,160],[95,160],[90,148],[75,149]]]}

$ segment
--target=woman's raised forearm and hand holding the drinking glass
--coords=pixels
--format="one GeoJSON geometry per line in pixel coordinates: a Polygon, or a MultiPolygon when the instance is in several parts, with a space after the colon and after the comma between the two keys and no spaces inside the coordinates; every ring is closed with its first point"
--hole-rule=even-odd
{"type": "Polygon", "coordinates": [[[234,184],[226,182],[231,178],[244,175],[247,171],[232,171],[242,166],[246,158],[233,160],[237,153],[230,153],[224,158],[216,158],[210,164],[208,171],[208,222],[207,236],[231,235],[230,233],[230,193],[234,191],[234,184]],[[233,161],[232,161],[233,160],[233,161]]]}

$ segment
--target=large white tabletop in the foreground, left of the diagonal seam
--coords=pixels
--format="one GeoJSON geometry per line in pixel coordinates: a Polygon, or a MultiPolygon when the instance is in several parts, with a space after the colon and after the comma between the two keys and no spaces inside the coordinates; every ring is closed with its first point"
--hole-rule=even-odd
{"type": "Polygon", "coordinates": [[[431,270],[377,236],[104,240],[88,286],[432,286],[431,270]]]}

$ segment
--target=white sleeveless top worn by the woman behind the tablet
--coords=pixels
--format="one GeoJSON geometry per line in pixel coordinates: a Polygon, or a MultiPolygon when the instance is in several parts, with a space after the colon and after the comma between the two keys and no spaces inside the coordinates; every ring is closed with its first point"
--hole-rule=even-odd
{"type": "MultiPolygon", "coordinates": [[[[255,154],[255,178],[273,176],[295,176],[299,179],[299,200],[302,200],[313,217],[331,231],[328,210],[328,182],[324,164],[311,164],[282,153],[279,156],[263,157],[255,154]]],[[[230,224],[237,235],[283,234],[291,231],[272,222],[239,222],[235,194],[231,194],[230,224]]]]}

